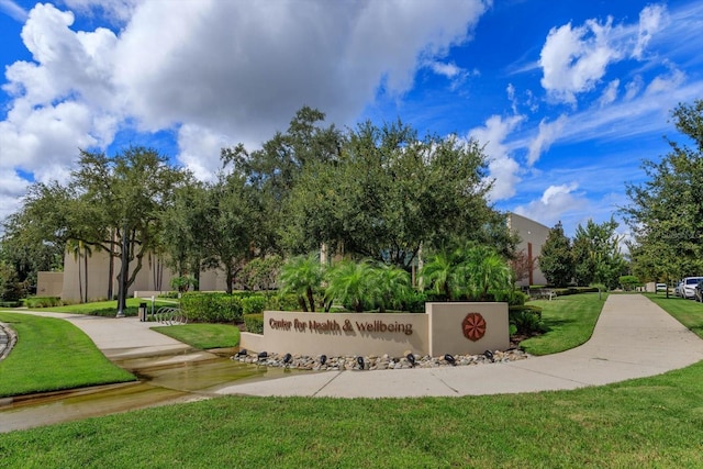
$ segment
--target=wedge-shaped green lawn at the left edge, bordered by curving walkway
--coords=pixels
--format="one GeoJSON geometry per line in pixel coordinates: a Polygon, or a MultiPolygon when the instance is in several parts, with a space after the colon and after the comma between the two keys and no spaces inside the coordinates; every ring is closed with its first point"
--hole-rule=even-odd
{"type": "Polygon", "coordinates": [[[7,312],[0,321],[18,334],[12,353],[0,361],[0,397],[135,380],[66,321],[7,312]]]}

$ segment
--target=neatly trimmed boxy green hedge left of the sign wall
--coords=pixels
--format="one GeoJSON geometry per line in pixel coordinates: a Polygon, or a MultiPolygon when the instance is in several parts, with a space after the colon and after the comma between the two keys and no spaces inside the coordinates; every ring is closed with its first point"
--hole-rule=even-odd
{"type": "Polygon", "coordinates": [[[180,308],[196,323],[237,323],[242,321],[242,295],[226,293],[185,293],[180,308]]]}

